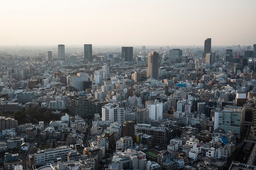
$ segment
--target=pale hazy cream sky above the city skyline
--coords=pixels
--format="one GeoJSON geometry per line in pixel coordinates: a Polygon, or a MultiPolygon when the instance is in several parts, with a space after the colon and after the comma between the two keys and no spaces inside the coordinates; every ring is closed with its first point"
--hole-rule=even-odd
{"type": "Polygon", "coordinates": [[[256,44],[256,0],[1,0],[0,45],[256,44]]]}

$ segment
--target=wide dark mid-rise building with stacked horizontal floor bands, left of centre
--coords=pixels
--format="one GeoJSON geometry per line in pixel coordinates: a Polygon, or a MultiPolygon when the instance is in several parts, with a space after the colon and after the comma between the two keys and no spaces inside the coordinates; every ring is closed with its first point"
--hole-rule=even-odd
{"type": "Polygon", "coordinates": [[[101,107],[100,103],[95,103],[85,96],[70,99],[70,115],[72,116],[93,116],[96,113],[101,113],[101,107]]]}

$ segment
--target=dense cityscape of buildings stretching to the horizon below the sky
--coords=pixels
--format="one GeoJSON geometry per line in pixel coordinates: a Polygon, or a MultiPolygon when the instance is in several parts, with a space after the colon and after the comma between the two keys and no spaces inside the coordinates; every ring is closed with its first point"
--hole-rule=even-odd
{"type": "Polygon", "coordinates": [[[0,47],[0,169],[256,169],[255,57],[211,38],[0,47]]]}

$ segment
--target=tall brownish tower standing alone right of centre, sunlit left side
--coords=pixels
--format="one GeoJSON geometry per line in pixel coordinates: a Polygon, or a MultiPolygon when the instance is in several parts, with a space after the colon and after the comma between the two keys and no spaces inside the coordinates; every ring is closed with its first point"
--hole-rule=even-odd
{"type": "Polygon", "coordinates": [[[147,78],[159,79],[158,68],[159,68],[159,54],[155,51],[152,51],[148,54],[148,69],[147,69],[147,78]]]}

